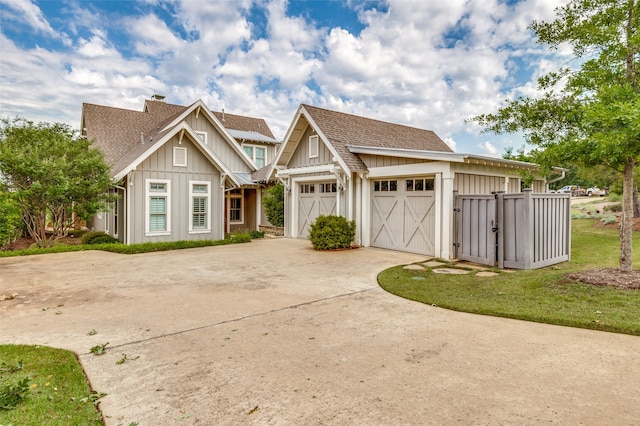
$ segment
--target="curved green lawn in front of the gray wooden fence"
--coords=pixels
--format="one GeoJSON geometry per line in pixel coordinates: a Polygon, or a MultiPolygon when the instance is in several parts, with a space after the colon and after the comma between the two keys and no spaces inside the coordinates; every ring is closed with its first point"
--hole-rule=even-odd
{"type": "MultiPolygon", "coordinates": [[[[572,221],[571,261],[555,266],[495,277],[397,266],[383,271],[378,282],[390,293],[455,311],[640,335],[640,291],[592,286],[565,276],[618,267],[619,231],[593,225],[572,221]]],[[[634,245],[639,243],[640,236],[634,235],[634,245]]],[[[633,260],[640,260],[637,250],[633,260]]]]}

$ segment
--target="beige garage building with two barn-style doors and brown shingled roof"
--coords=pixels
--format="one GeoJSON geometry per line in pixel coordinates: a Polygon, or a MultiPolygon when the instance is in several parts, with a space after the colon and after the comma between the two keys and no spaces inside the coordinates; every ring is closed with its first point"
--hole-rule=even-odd
{"type": "MultiPolygon", "coordinates": [[[[521,193],[521,172],[536,169],[454,153],[429,130],[300,105],[270,176],[286,188],[287,236],[341,215],[356,222],[357,244],[446,259],[456,255],[456,194],[521,193]]],[[[536,176],[533,193],[546,183],[536,176]]]]}

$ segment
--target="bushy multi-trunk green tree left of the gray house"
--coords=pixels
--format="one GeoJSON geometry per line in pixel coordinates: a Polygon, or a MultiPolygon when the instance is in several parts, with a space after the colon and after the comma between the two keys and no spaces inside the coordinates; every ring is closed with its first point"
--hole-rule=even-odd
{"type": "Polygon", "coordinates": [[[95,214],[112,185],[109,165],[88,140],[65,124],[24,118],[2,120],[0,175],[40,247],[67,235],[75,220],[95,214]]]}

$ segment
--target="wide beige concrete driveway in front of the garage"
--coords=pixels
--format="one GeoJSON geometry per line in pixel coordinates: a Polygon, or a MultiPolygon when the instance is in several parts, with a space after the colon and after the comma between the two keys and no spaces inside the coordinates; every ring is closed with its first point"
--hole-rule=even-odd
{"type": "Polygon", "coordinates": [[[637,424],[639,338],[378,287],[419,260],[291,239],[0,259],[0,340],[77,352],[109,425],[637,424]]]}

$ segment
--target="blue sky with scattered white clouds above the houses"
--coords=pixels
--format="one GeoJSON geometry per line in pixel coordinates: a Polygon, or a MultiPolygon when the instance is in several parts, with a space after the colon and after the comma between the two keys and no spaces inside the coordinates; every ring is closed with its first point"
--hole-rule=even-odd
{"type": "Polygon", "coordinates": [[[79,127],[83,102],[152,94],[263,117],[300,103],[434,130],[501,156],[517,135],[465,122],[534,95],[550,56],[527,30],[565,0],[0,0],[0,115],[79,127]]]}

